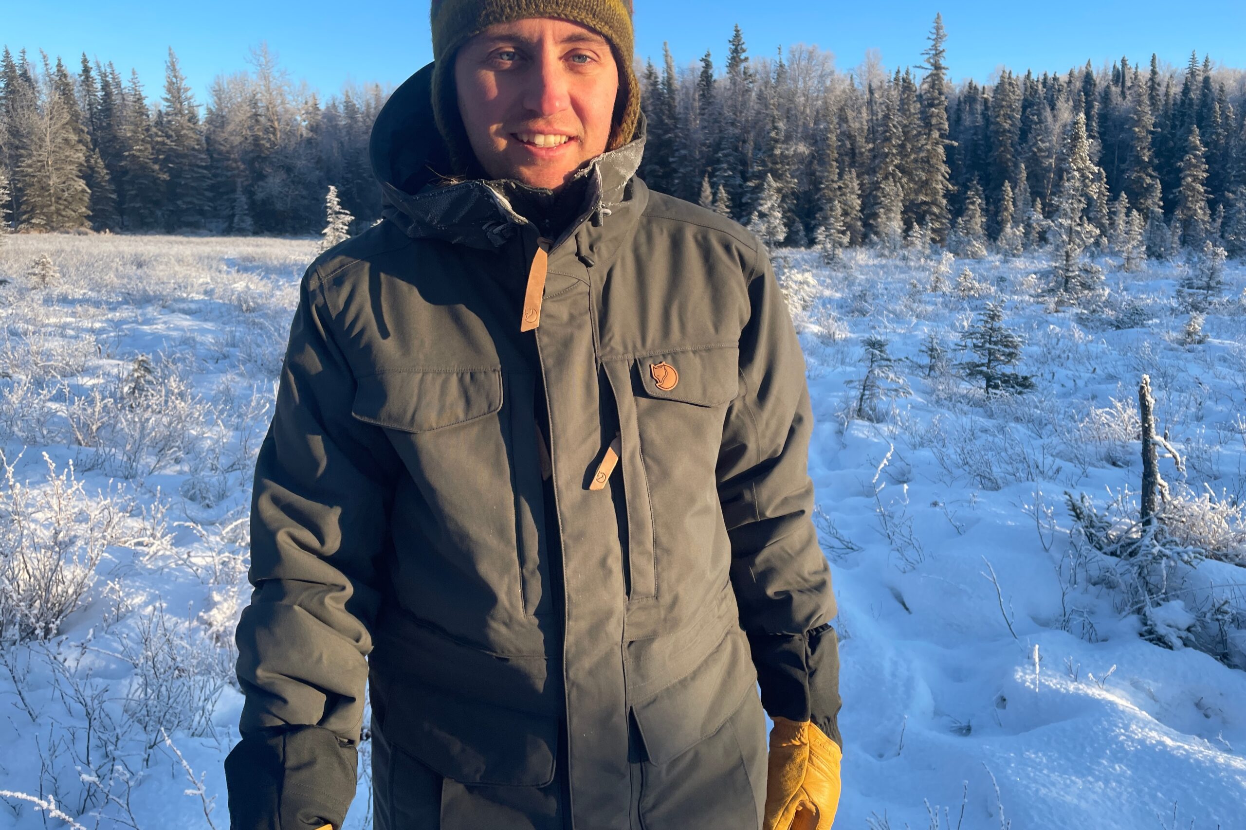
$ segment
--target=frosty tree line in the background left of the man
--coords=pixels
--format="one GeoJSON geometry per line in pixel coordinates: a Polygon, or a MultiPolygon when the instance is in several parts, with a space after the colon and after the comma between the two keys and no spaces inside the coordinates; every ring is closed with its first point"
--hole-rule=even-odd
{"type": "Polygon", "coordinates": [[[368,137],[388,92],[326,103],[260,45],[252,70],[217,76],[196,102],[168,50],[164,90],[110,61],[76,72],[0,52],[0,231],[307,234],[328,186],[361,219],[380,216],[368,137]]]}

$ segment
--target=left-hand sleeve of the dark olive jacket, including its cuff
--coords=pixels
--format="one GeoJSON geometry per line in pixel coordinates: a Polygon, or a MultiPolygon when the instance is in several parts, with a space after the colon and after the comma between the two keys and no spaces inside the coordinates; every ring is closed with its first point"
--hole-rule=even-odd
{"type": "Polygon", "coordinates": [[[355,794],[392,461],[383,432],[350,415],[354,375],[329,323],[313,263],[255,462],[233,830],[341,828],[355,794]]]}

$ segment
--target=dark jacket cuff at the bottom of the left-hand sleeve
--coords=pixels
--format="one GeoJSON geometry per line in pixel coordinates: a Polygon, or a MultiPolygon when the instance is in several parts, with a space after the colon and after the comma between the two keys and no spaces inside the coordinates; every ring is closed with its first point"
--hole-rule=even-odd
{"type": "Polygon", "coordinates": [[[355,796],[359,751],[323,727],[244,737],[226,758],[231,830],[341,828],[355,796]]]}

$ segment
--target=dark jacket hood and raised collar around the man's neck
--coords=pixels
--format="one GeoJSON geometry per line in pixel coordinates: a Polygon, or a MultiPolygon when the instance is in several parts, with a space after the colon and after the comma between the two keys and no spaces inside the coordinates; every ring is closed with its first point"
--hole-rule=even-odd
{"type": "MultiPolygon", "coordinates": [[[[407,77],[376,115],[368,153],[381,186],[381,216],[411,238],[444,239],[475,248],[496,248],[528,224],[516,201],[540,201],[552,191],[515,179],[468,178],[444,183],[452,165],[432,115],[432,69],[427,64],[407,77]]],[[[635,138],[597,156],[577,172],[588,177],[582,218],[599,224],[611,207],[627,198],[627,184],[640,166],[645,123],[635,138]]],[[[578,222],[573,223],[578,224],[578,222]]]]}

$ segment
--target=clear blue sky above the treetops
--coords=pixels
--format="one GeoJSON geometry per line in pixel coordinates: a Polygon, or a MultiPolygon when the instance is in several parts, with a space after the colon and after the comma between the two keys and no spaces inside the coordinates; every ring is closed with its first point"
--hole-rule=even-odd
{"type": "MultiPolygon", "coordinates": [[[[721,65],[731,25],[744,30],[750,55],[773,55],[782,45],[816,44],[847,70],[867,49],[887,69],[921,62],[936,11],[948,30],[948,64],[956,80],[987,80],[1007,65],[1024,71],[1064,71],[1089,59],[1095,66],[1128,55],[1182,66],[1191,49],[1212,61],[1246,69],[1246,1],[1205,0],[635,0],[637,52],[657,62],[670,42],[679,64],[713,50],[721,65]]],[[[138,70],[150,96],[163,85],[168,46],[178,55],[197,100],[217,74],[248,69],[249,49],[267,41],[295,80],[323,95],[344,81],[400,83],[431,59],[427,0],[406,2],[263,2],[217,0],[0,0],[0,45],[25,47],[37,60],[62,56],[75,69],[86,51],[113,61],[128,79],[138,70]]]]}

